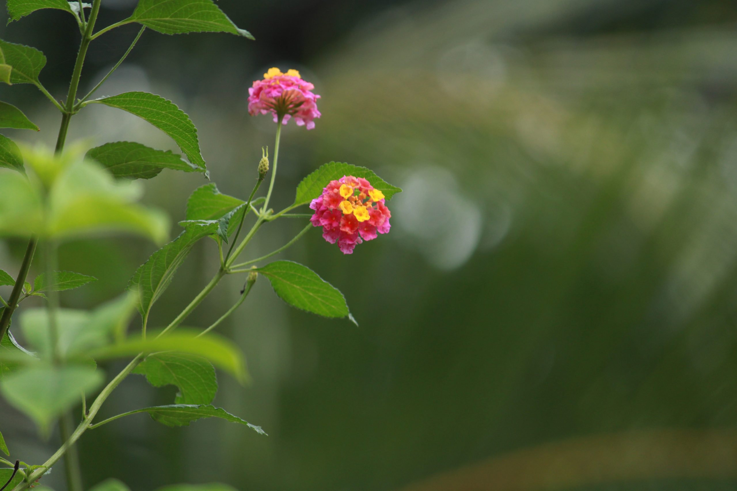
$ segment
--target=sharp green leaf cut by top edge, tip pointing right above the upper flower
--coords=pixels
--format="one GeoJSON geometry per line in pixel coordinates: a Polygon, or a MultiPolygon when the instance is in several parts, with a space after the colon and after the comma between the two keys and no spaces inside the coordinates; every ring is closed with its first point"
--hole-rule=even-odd
{"type": "Polygon", "coordinates": [[[212,0],[139,0],[130,20],[164,34],[229,32],[254,39],[239,29],[212,0]]]}

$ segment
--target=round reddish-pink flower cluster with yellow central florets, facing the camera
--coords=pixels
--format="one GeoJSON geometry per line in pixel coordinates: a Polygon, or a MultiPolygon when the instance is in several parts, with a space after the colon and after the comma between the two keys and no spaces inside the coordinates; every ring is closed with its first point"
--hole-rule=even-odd
{"type": "Polygon", "coordinates": [[[343,254],[351,254],[356,244],[388,233],[391,212],[384,205],[384,194],[362,177],[343,176],[323,188],[323,194],[312,199],[315,214],[310,222],[323,227],[323,238],[330,244],[338,241],[343,254]]]}

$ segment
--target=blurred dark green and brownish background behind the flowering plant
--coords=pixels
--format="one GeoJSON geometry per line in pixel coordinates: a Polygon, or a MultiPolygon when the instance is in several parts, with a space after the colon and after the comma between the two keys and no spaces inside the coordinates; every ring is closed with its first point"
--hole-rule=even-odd
{"type": "MultiPolygon", "coordinates": [[[[103,0],[98,24],[134,3],[103,0]]],[[[313,230],[280,256],[341,289],[360,328],[289,308],[263,280],[225,323],[253,384],[221,375],[215,404],[269,437],[214,420],[172,429],[125,418],[85,434],[88,486],[737,489],[734,1],[218,4],[257,40],[147,31],[99,96],[172,99],[199,129],[212,180],[245,197],[274,131],[269,117],[248,116],[248,87],[270,66],[298,68],[323,116],[313,131],[285,129],[274,208],[329,160],[405,191],[389,203],[391,233],[353,255],[313,230]]],[[[0,24],[1,38],[46,54],[41,80],[63,97],[78,43],[71,16],[0,24]]],[[[83,91],[136,30],[93,43],[83,91]]],[[[60,116],[48,101],[30,85],[0,90],[42,129],[9,135],[53,144],[60,116]]],[[[83,138],[175,149],[108,107],[72,121],[70,141],[83,138]]],[[[184,219],[203,183],[164,171],[145,201],[184,219]]],[[[248,255],[302,226],[262,227],[248,255]]],[[[23,250],[3,242],[0,268],[15,274],[23,250]]],[[[66,244],[61,268],[100,280],[63,304],[116,296],[154,250],[125,238],[66,244]]],[[[217,248],[203,241],[149,325],[168,322],[216,269],[217,248]]],[[[223,281],[188,323],[217,319],[243,280],[223,281]]],[[[132,376],[103,412],[170,403],[174,391],[132,376]]],[[[4,402],[0,414],[25,461],[56,448],[4,402]]],[[[63,490],[63,470],[43,481],[63,490]]]]}

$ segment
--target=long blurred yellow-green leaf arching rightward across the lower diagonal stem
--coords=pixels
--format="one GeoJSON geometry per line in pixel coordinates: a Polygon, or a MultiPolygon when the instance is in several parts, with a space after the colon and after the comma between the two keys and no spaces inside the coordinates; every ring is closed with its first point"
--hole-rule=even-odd
{"type": "Polygon", "coordinates": [[[245,371],[245,359],[240,349],[229,339],[208,333],[199,336],[201,331],[178,328],[177,331],[167,333],[165,336],[156,338],[156,333],[149,333],[147,339],[133,337],[119,342],[116,345],[100,347],[88,351],[88,356],[98,359],[120,358],[125,356],[136,356],[139,353],[151,354],[161,351],[176,351],[188,355],[206,358],[215,367],[234,375],[240,382],[247,379],[245,371]]]}

